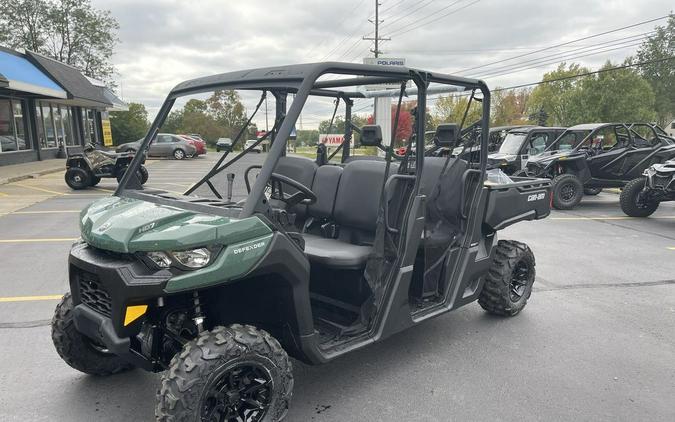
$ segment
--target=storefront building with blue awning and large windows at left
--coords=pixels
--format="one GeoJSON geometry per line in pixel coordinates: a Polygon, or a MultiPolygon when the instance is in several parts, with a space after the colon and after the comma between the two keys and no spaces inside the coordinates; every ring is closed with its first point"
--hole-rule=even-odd
{"type": "Polygon", "coordinates": [[[65,157],[90,142],[112,145],[108,113],[125,109],[74,67],[0,47],[0,166],[65,157]]]}

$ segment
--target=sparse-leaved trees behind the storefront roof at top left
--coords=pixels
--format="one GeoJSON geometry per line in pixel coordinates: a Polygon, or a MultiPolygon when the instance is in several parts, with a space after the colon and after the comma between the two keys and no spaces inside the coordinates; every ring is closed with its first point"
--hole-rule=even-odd
{"type": "Polygon", "coordinates": [[[0,43],[74,66],[109,85],[117,20],[90,0],[0,0],[0,43]]]}

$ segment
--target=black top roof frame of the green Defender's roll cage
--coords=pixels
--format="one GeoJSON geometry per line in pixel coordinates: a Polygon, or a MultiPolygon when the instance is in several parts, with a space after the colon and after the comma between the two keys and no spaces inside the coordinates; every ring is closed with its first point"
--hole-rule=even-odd
{"type": "MultiPolygon", "coordinates": [[[[445,75],[441,73],[423,71],[419,69],[408,68],[405,66],[381,66],[366,65],[358,63],[341,62],[321,62],[321,63],[303,63],[294,65],[285,65],[277,67],[265,67],[258,69],[240,70],[235,72],[221,73],[218,75],[205,76],[202,78],[191,79],[176,85],[171,94],[180,95],[184,92],[205,91],[227,84],[237,84],[238,87],[250,86],[252,88],[271,87],[271,86],[299,86],[300,83],[308,77],[318,77],[322,73],[344,73],[345,75],[367,74],[374,75],[373,78],[381,78],[381,82],[387,82],[388,78],[407,78],[411,72],[423,72],[429,75],[430,80],[438,80],[448,84],[458,86],[485,87],[485,84],[478,79],[470,79],[459,76],[445,75]]],[[[365,78],[361,78],[366,81],[365,78]]],[[[327,80],[321,81],[316,85],[321,88],[330,88],[333,86],[349,86],[350,80],[327,80]],[[342,84],[342,85],[340,85],[342,84]]]]}

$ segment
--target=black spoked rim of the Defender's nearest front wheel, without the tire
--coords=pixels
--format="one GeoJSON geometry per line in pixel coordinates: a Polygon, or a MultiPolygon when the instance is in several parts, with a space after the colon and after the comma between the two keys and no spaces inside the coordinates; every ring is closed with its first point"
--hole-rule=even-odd
{"type": "Polygon", "coordinates": [[[274,390],[269,371],[256,362],[241,362],[219,372],[207,385],[202,422],[262,421],[274,390]]]}

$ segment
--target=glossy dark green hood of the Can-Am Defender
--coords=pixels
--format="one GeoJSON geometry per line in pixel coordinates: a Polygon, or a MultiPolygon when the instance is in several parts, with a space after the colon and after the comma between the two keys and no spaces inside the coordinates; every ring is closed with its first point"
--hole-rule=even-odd
{"type": "Polygon", "coordinates": [[[133,253],[227,245],[271,230],[257,217],[235,219],[112,196],[82,210],[80,232],[94,247],[133,253]]]}

